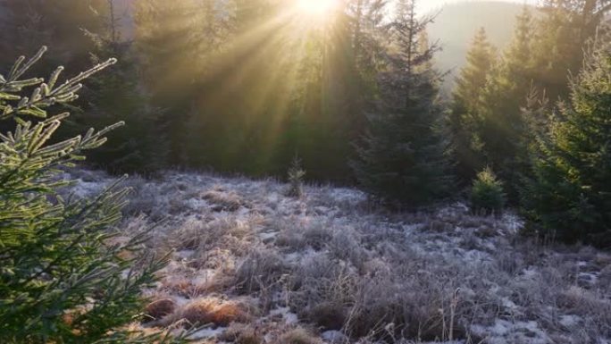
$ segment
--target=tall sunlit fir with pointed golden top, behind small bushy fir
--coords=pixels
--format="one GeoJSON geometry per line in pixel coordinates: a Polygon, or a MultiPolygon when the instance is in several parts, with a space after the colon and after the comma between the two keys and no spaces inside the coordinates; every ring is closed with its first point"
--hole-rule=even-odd
{"type": "Polygon", "coordinates": [[[531,11],[524,6],[518,15],[514,38],[490,71],[481,94],[481,138],[485,164],[506,182],[510,201],[517,200],[518,186],[527,170],[527,126],[522,108],[526,105],[533,79],[531,11]]]}

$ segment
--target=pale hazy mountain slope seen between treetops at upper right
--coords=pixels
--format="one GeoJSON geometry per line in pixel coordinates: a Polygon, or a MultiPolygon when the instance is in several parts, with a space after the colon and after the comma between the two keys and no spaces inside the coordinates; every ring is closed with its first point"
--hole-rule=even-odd
{"type": "Polygon", "coordinates": [[[465,58],[475,31],[484,27],[490,42],[502,50],[511,40],[515,16],[523,4],[505,2],[464,2],[448,4],[441,9],[429,27],[431,41],[439,39],[443,48],[437,57],[441,71],[450,71],[444,88],[449,90],[465,64],[465,58]]]}

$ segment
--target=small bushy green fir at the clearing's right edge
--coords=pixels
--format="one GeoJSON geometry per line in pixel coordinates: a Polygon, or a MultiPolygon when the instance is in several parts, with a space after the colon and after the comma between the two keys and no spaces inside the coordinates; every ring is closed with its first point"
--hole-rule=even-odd
{"type": "Polygon", "coordinates": [[[471,189],[471,209],[475,214],[501,214],[505,206],[503,183],[490,167],[477,173],[471,189]]]}

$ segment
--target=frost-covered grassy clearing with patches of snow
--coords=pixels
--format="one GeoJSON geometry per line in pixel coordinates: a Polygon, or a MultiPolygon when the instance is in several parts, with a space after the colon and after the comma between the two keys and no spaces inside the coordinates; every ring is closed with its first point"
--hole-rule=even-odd
{"type": "MultiPolygon", "coordinates": [[[[72,192],[112,179],[70,172],[72,192]]],[[[514,214],[457,203],[418,214],[355,189],[166,172],[130,178],[121,231],[157,224],[172,252],[144,329],[200,343],[611,343],[611,255],[518,235],[514,214]]]]}

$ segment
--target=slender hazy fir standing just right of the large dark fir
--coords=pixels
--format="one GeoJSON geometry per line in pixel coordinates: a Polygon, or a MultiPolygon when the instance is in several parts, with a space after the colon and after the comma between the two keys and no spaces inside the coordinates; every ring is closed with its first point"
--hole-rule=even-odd
{"type": "Polygon", "coordinates": [[[481,156],[481,94],[495,63],[494,47],[490,46],[486,30],[475,34],[467,54],[467,64],[456,79],[452,95],[448,126],[452,134],[456,171],[461,180],[473,180],[484,165],[481,156]]]}

